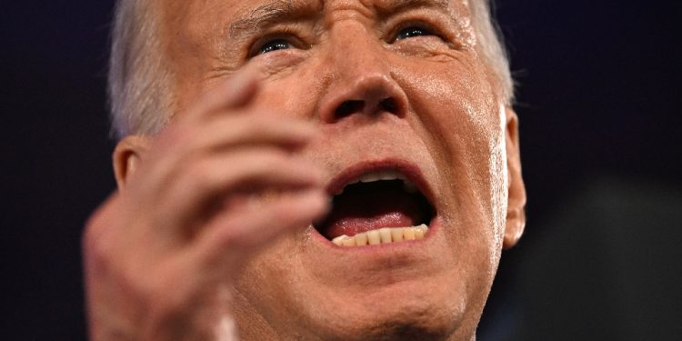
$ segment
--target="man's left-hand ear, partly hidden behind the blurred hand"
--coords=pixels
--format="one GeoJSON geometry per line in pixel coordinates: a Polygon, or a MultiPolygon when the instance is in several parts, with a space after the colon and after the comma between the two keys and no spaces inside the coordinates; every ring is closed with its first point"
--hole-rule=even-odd
{"type": "Polygon", "coordinates": [[[130,179],[138,165],[142,161],[142,156],[149,149],[151,140],[145,135],[127,135],[118,142],[112,155],[114,164],[114,176],[119,190],[125,188],[125,184],[130,179]]]}

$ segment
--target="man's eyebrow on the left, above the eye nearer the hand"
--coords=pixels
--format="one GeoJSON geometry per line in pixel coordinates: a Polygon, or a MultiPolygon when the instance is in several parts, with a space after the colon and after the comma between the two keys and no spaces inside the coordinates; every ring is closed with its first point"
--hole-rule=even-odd
{"type": "Polygon", "coordinates": [[[322,6],[322,0],[275,0],[258,5],[229,26],[230,38],[239,39],[243,35],[256,32],[266,25],[294,21],[306,15],[315,14],[322,6]]]}

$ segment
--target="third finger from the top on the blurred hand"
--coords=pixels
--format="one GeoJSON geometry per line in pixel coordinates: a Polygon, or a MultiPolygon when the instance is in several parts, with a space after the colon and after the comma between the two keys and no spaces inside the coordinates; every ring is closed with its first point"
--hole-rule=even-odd
{"type": "MultiPolygon", "coordinates": [[[[231,193],[322,187],[319,171],[272,148],[245,148],[206,157],[189,165],[163,191],[159,209],[165,224],[185,226],[206,220],[207,210],[231,193]]],[[[176,227],[181,228],[181,227],[176,227]]]]}

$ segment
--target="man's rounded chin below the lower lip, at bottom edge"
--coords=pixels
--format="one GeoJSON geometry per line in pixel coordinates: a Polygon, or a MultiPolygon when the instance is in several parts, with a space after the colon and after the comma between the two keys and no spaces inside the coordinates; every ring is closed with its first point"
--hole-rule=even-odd
{"type": "Polygon", "coordinates": [[[456,288],[440,287],[396,284],[371,295],[336,297],[305,315],[314,319],[310,327],[324,340],[470,340],[478,322],[470,317],[479,316],[480,309],[453,295],[456,288]]]}

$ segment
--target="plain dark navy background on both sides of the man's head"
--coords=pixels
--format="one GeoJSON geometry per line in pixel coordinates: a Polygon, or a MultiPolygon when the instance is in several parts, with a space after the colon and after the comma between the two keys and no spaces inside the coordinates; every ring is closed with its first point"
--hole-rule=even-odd
{"type": "MultiPolygon", "coordinates": [[[[80,235],[115,184],[111,1],[0,11],[0,338],[85,336],[80,235]]],[[[675,1],[498,1],[518,82],[527,235],[481,340],[672,339],[682,266],[675,1]]]]}

